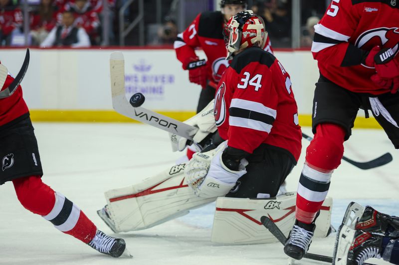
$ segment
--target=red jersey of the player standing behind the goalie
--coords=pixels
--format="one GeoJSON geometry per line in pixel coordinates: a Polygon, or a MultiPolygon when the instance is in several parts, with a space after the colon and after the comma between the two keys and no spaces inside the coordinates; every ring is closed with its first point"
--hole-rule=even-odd
{"type": "MultiPolygon", "coordinates": [[[[188,64],[196,58],[196,48],[202,48],[207,58],[208,80],[219,82],[221,75],[228,67],[226,46],[223,39],[224,17],[220,11],[200,13],[190,26],[178,35],[174,48],[179,61],[186,70],[188,64]]],[[[267,38],[265,50],[272,52],[267,38]]]]}

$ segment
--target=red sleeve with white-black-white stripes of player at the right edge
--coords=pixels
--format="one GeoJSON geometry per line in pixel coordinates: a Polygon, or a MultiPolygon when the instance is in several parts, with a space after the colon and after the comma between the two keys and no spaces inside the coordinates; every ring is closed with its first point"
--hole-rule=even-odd
{"type": "Polygon", "coordinates": [[[359,19],[351,0],[332,0],[323,18],[315,25],[313,57],[336,66],[362,64],[368,52],[349,43],[359,19]]]}

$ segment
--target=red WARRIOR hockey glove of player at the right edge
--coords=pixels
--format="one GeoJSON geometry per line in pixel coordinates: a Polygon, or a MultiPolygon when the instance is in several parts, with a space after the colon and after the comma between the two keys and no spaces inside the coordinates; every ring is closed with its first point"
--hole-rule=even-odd
{"type": "Polygon", "coordinates": [[[365,63],[369,67],[376,68],[376,74],[371,80],[380,88],[391,89],[396,93],[399,89],[399,63],[391,48],[382,49],[374,47],[367,56],[365,63]]]}

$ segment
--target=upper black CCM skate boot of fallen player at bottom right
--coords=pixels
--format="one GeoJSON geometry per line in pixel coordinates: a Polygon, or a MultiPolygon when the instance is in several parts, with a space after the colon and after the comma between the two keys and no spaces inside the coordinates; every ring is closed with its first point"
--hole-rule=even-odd
{"type": "Polygon", "coordinates": [[[355,229],[389,236],[392,232],[399,229],[399,218],[380,213],[373,207],[366,206],[362,216],[356,222],[355,229]]]}

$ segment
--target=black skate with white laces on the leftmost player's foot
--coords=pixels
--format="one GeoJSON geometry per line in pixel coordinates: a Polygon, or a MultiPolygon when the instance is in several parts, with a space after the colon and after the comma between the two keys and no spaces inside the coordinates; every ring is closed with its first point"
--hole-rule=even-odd
{"type": "MultiPolygon", "coordinates": [[[[107,236],[100,230],[97,230],[95,237],[88,245],[96,251],[114,258],[120,257],[126,249],[126,244],[123,239],[107,236]]],[[[128,253],[127,255],[130,256],[128,253]]]]}

